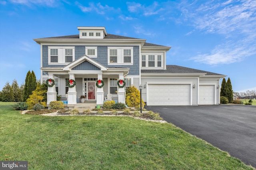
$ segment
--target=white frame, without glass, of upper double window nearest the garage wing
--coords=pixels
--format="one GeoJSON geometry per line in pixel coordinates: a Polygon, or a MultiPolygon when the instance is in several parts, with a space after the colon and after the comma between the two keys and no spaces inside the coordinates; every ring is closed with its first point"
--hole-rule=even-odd
{"type": "Polygon", "coordinates": [[[132,65],[133,64],[133,47],[108,47],[108,65],[132,65]],[[117,63],[110,63],[110,49],[117,50],[117,63]],[[131,50],[131,63],[124,63],[124,49],[131,50]]]}

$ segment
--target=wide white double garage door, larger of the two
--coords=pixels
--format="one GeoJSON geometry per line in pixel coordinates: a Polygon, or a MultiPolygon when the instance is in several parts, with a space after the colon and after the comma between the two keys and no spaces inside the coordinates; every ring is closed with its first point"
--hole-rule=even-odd
{"type": "Polygon", "coordinates": [[[190,105],[190,84],[148,84],[147,105],[190,105]]]}

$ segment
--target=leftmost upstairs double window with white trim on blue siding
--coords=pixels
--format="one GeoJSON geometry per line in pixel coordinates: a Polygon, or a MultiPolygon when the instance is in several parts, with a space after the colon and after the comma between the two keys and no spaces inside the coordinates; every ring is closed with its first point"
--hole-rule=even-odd
{"type": "Polygon", "coordinates": [[[75,47],[48,46],[48,64],[67,64],[74,61],[75,47]]]}

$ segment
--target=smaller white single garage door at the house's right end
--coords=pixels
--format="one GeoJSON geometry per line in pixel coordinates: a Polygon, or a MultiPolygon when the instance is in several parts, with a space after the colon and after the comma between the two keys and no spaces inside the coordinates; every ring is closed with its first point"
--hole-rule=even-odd
{"type": "Polygon", "coordinates": [[[199,86],[199,104],[214,104],[214,85],[199,86]]]}

